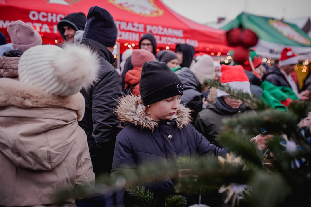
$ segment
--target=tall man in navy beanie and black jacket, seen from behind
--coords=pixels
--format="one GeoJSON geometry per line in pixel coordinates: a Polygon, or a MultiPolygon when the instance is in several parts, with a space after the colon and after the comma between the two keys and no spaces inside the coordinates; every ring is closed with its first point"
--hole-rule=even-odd
{"type": "Polygon", "coordinates": [[[117,26],[111,14],[104,8],[91,7],[81,44],[97,51],[101,69],[98,81],[88,90],[81,91],[85,99],[85,113],[79,125],[86,133],[96,176],[110,173],[115,139],[121,130],[114,114],[121,96],[121,78],[113,67],[112,54],[117,36],[117,26]]]}

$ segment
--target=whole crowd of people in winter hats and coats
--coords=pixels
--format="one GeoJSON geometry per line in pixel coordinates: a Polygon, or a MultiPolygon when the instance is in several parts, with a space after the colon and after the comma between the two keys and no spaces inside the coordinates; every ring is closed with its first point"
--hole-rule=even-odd
{"type": "MultiPolygon", "coordinates": [[[[156,53],[156,39],[147,33],[116,69],[118,31],[104,8],[68,14],[58,31],[65,43],[43,45],[32,26],[14,21],[7,27],[12,43],[0,46],[0,206],[53,206],[56,192],[93,186],[104,173],[137,172],[141,164],[178,157],[225,156],[228,149],[217,142],[222,120],[256,111],[205,79],[258,99],[263,81],[288,87],[301,101],[310,98],[311,76],[300,90],[290,48],[270,68],[253,50],[252,63],[220,65],[187,44],[156,53]]],[[[300,127],[310,125],[308,119],[300,127]]],[[[254,134],[250,141],[264,150],[270,138],[254,134]]],[[[160,199],[174,193],[176,180],[146,186],[160,199]]],[[[122,190],[65,206],[128,205],[126,197],[122,190]]]]}

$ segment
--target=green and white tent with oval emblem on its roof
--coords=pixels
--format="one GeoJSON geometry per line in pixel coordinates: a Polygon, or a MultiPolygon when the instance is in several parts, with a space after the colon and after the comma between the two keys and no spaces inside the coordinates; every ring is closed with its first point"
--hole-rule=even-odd
{"type": "Polygon", "coordinates": [[[311,38],[295,24],[243,12],[221,29],[230,30],[239,25],[258,35],[259,41],[254,49],[262,57],[279,59],[282,49],[290,47],[299,60],[311,59],[311,38]]]}

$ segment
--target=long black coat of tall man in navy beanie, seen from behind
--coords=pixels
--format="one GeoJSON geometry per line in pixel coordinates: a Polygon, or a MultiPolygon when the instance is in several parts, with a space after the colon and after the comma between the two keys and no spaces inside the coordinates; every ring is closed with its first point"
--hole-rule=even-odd
{"type": "Polygon", "coordinates": [[[121,125],[114,109],[121,96],[121,78],[114,69],[113,54],[102,44],[84,38],[81,44],[91,47],[100,56],[101,69],[98,81],[81,93],[85,99],[85,112],[79,125],[84,129],[95,175],[110,172],[114,154],[115,138],[121,125]]]}

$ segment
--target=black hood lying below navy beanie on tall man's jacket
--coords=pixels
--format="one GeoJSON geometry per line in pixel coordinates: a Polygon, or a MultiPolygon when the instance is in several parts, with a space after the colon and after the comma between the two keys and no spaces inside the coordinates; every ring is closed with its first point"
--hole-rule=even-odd
{"type": "Polygon", "coordinates": [[[83,38],[81,44],[89,46],[92,50],[96,51],[97,54],[99,54],[99,56],[103,57],[110,64],[114,65],[115,63],[114,55],[104,45],[89,38],[83,38]]]}

